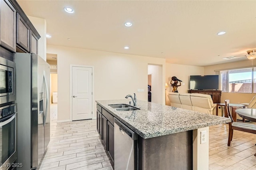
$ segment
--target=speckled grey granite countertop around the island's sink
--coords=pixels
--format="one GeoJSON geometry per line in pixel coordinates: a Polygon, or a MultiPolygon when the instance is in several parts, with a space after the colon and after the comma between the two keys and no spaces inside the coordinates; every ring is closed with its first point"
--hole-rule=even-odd
{"type": "Polygon", "coordinates": [[[136,111],[116,111],[109,106],[129,105],[129,101],[131,100],[98,100],[96,103],[144,139],[231,122],[226,117],[140,100],[137,101],[140,110],[136,111]]]}

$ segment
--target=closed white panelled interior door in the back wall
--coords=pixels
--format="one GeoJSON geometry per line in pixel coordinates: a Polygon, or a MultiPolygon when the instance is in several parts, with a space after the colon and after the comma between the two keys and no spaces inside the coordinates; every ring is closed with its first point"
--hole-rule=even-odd
{"type": "Polygon", "coordinates": [[[72,66],[72,121],[92,119],[92,67],[72,66]]]}

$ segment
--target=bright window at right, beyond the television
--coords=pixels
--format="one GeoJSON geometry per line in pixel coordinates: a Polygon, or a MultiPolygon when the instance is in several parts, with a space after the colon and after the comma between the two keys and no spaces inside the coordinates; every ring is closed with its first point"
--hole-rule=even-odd
{"type": "Polygon", "coordinates": [[[220,77],[223,92],[256,93],[256,67],[220,71],[220,77]]]}

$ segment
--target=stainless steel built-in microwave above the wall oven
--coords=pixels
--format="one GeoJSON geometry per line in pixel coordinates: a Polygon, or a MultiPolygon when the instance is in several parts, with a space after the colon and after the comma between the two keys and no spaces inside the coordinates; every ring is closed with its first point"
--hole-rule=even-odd
{"type": "Polygon", "coordinates": [[[0,104],[16,100],[15,63],[0,57],[0,104]]]}

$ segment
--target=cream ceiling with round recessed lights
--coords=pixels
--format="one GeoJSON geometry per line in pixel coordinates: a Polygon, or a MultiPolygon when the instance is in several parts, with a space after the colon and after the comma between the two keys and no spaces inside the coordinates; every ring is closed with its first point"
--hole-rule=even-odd
{"type": "MultiPolygon", "coordinates": [[[[47,44],[215,65],[256,49],[256,1],[17,0],[46,19],[47,44]],[[75,10],[73,14],[64,7],[75,10]],[[132,22],[131,27],[124,26],[132,22]],[[218,36],[217,33],[226,34],[218,36]],[[70,38],[70,40],[68,40],[70,38]],[[130,49],[124,49],[124,46],[130,49]]],[[[241,61],[241,60],[238,60],[241,61]]]]}

